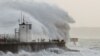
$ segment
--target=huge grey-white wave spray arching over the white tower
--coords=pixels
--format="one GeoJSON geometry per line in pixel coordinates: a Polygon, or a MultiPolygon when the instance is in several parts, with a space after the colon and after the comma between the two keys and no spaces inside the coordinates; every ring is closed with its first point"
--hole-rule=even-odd
{"type": "Polygon", "coordinates": [[[70,29],[68,23],[74,22],[67,12],[45,2],[30,1],[1,0],[0,26],[2,30],[0,31],[2,33],[13,32],[12,28],[18,26],[17,20],[20,18],[20,11],[22,11],[23,14],[28,15],[25,18],[33,24],[34,34],[44,34],[51,39],[67,40],[70,29]]]}

